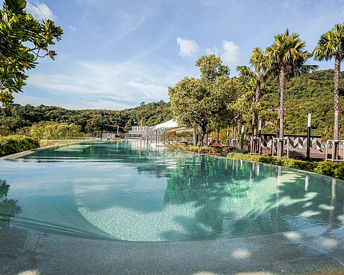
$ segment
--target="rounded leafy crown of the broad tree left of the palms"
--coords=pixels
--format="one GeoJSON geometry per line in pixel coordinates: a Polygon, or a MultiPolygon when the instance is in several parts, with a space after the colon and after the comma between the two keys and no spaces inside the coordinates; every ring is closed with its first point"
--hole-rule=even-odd
{"type": "Polygon", "coordinates": [[[228,67],[215,54],[200,57],[196,66],[200,67],[201,78],[180,80],[169,87],[169,98],[178,123],[195,129],[200,127],[204,135],[207,127],[219,130],[228,123],[233,113],[230,104],[237,98],[240,83],[229,78],[228,67]]]}

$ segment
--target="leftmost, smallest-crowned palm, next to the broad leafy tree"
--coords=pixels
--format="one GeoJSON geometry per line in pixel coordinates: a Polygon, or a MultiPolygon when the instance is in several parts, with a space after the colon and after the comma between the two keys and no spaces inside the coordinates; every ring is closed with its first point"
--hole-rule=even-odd
{"type": "Polygon", "coordinates": [[[255,47],[252,50],[252,54],[250,56],[250,65],[254,69],[250,69],[246,66],[237,66],[237,72],[239,72],[239,76],[249,77],[251,79],[255,79],[251,84],[253,84],[255,94],[253,96],[253,108],[252,108],[252,136],[257,137],[258,133],[258,110],[256,108],[257,103],[259,102],[259,98],[261,96],[261,80],[264,77],[264,67],[265,67],[264,52],[259,48],[255,47]]]}

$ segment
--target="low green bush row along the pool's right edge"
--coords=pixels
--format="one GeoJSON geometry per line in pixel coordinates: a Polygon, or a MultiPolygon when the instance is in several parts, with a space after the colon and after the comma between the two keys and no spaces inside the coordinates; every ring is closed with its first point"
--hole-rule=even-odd
{"type": "Polygon", "coordinates": [[[305,170],[309,172],[318,173],[330,177],[336,177],[337,179],[344,179],[344,163],[343,162],[306,162],[299,159],[283,159],[279,157],[270,157],[265,155],[249,155],[228,153],[227,157],[231,159],[244,159],[249,162],[263,162],[267,164],[275,164],[279,166],[286,166],[299,170],[305,170]]]}

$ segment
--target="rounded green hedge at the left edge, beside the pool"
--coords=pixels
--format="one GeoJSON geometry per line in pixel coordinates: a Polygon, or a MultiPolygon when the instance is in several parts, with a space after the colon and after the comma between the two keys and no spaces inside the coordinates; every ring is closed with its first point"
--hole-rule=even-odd
{"type": "Polygon", "coordinates": [[[8,135],[7,137],[0,137],[0,155],[10,155],[38,147],[39,142],[25,135],[8,135]]]}

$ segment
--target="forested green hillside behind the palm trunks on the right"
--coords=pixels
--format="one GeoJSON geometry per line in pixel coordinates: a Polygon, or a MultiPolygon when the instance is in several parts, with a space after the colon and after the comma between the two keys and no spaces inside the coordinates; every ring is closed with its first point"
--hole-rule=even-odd
{"type": "MultiPolygon", "coordinates": [[[[344,87],[344,72],[341,72],[341,87],[344,87]]],[[[277,114],[266,111],[270,106],[277,108],[279,100],[278,84],[266,85],[266,96],[261,100],[263,120],[272,120],[274,132],[277,114]]],[[[344,105],[341,98],[341,116],[339,126],[344,136],[344,105]]],[[[333,135],[334,93],[333,70],[318,71],[299,78],[293,78],[287,84],[285,133],[306,134],[308,113],[312,113],[312,135],[322,135],[327,140],[333,135]]],[[[266,127],[266,130],[269,130],[266,127]]]]}

